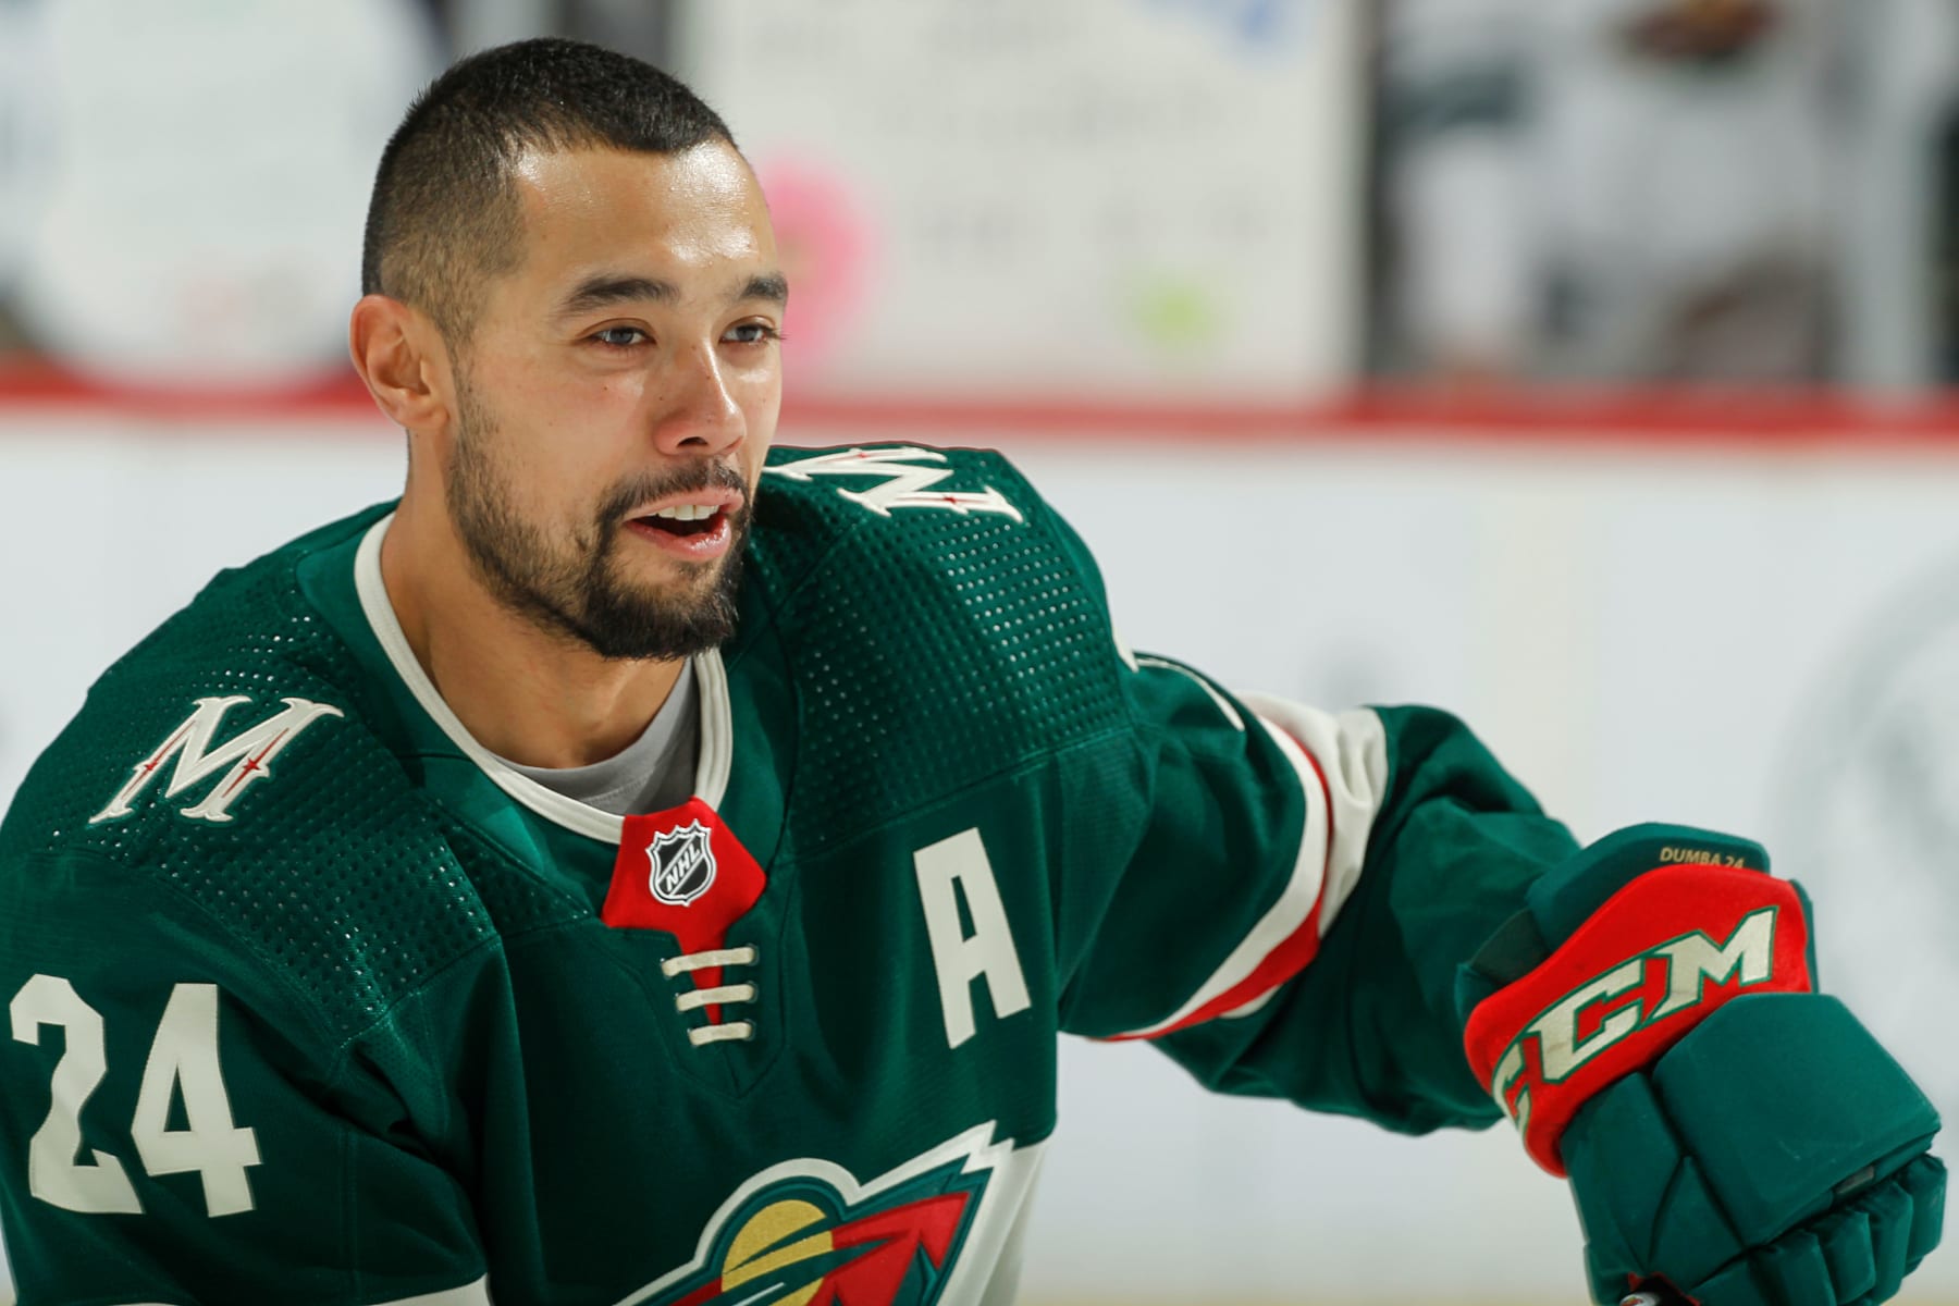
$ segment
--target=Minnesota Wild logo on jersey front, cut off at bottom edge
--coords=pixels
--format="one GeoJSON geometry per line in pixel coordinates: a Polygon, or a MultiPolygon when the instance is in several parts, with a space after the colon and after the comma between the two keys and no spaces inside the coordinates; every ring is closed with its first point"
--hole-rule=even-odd
{"type": "Polygon", "coordinates": [[[1013,1143],[970,1130],[868,1185],[829,1161],[772,1167],[729,1198],[693,1263],[621,1306],[932,1306],[1013,1143]]]}

